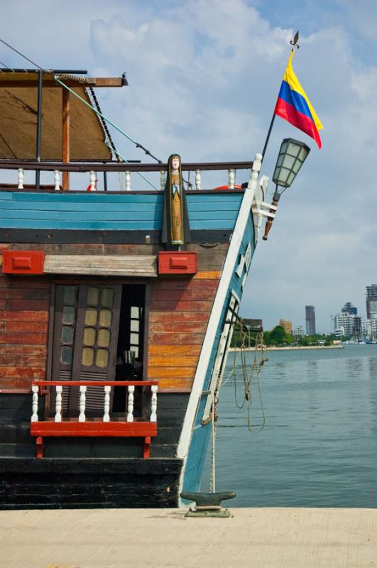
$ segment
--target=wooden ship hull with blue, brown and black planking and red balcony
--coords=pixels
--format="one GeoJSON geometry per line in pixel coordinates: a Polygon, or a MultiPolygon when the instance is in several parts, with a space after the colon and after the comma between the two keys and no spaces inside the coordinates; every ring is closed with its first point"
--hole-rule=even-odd
{"type": "Polygon", "coordinates": [[[0,160],[18,170],[0,187],[0,508],[175,507],[199,490],[260,159],[182,164],[197,172],[184,251],[161,242],[163,192],[95,190],[94,167],[166,165],[0,160]],[[200,189],[209,169],[229,170],[228,189],[200,189]],[[251,172],[244,189],[235,169],[251,172]],[[27,170],[53,185],[23,185],[27,170]],[[91,191],[67,190],[68,172],[90,173],[91,191]]]}

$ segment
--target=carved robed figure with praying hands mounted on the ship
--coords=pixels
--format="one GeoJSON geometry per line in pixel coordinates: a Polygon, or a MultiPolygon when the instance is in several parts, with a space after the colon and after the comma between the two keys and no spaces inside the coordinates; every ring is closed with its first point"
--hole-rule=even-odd
{"type": "Polygon", "coordinates": [[[172,154],[168,160],[165,183],[163,230],[161,240],[167,251],[185,250],[190,241],[185,189],[182,185],[180,156],[172,154]]]}

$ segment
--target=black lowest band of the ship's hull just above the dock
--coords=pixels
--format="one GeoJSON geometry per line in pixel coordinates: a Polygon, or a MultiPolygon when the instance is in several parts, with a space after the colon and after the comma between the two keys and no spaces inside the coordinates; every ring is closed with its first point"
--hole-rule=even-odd
{"type": "Polygon", "coordinates": [[[180,459],[0,459],[0,510],[174,508],[180,459]]]}

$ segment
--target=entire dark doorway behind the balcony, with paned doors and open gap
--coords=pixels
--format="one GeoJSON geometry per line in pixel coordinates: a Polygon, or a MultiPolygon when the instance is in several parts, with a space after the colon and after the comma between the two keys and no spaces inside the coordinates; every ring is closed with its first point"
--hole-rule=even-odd
{"type": "MultiPolygon", "coordinates": [[[[56,285],[52,380],[141,381],[144,315],[143,285],[56,285]]],[[[62,399],[64,415],[77,417],[79,387],[64,387],[62,399]]],[[[135,396],[136,413],[139,399],[135,396]]],[[[51,402],[52,412],[55,389],[51,402]]],[[[111,403],[114,412],[124,413],[126,387],[112,390],[111,403]]],[[[103,410],[102,389],[88,387],[86,415],[100,417],[103,410]]]]}

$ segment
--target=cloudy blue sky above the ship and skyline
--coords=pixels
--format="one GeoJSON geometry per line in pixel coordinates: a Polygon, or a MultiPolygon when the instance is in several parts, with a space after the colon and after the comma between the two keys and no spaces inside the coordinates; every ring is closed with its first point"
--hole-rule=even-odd
{"type": "MultiPolygon", "coordinates": [[[[280,317],[305,327],[305,305],[314,305],[318,332],[329,331],[330,315],[345,302],[365,317],[365,287],[377,282],[374,0],[0,0],[0,6],[6,16],[0,37],[41,67],[126,72],[129,87],[97,89],[102,111],[163,161],[173,152],[183,162],[253,160],[298,29],[293,68],[322,121],[322,149],[275,120],[262,174],[272,177],[283,138],[302,140],[311,152],[280,200],[268,241],[258,242],[241,315],[263,319],[265,329],[280,317]]],[[[4,45],[0,60],[30,67],[4,45]]],[[[148,161],[112,133],[121,155],[148,161]]],[[[237,173],[236,182],[247,179],[237,173]]],[[[203,174],[203,188],[213,183],[203,174]]],[[[273,189],[271,182],[269,200],[273,189]]]]}

